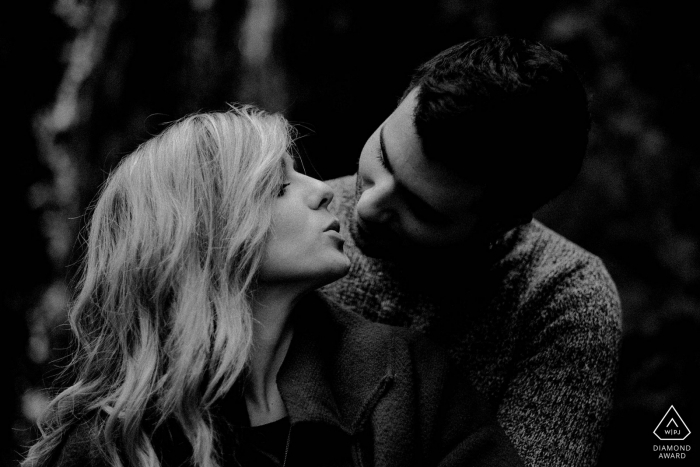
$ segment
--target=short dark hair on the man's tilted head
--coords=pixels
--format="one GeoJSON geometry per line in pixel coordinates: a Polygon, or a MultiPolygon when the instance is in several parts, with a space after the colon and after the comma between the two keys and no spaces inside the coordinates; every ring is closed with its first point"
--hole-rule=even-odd
{"type": "Polygon", "coordinates": [[[533,212],[581,169],[590,114],[565,55],[495,36],[453,46],[421,65],[414,122],[428,159],[483,185],[497,209],[533,212]]]}

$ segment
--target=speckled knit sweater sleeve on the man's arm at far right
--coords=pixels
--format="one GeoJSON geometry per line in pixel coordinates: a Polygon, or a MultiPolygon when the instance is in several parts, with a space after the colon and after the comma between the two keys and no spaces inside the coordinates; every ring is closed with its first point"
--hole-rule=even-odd
{"type": "Polygon", "coordinates": [[[499,421],[527,465],[595,465],[618,364],[615,286],[591,257],[540,287],[524,309],[530,340],[520,348],[499,421]]]}

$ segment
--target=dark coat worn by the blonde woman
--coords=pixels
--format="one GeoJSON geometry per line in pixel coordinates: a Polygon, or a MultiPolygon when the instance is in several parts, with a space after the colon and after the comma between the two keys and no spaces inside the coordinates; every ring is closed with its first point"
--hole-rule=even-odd
{"type": "MultiPolygon", "coordinates": [[[[291,422],[287,466],[522,465],[494,414],[435,345],[316,294],[293,319],[277,377],[291,422]]],[[[90,426],[68,437],[57,466],[104,465],[90,426]]],[[[165,465],[186,463],[184,444],[170,433],[157,437],[156,450],[165,465]]],[[[226,464],[235,465],[233,443],[222,441],[226,464]]]]}

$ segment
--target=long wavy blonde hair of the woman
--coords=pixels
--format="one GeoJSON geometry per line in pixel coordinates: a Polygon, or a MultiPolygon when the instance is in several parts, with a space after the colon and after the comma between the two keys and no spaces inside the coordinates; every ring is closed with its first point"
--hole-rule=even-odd
{"type": "Polygon", "coordinates": [[[195,465],[218,465],[211,409],[246,368],[251,293],[290,144],[283,117],[232,107],[175,122],[111,173],[69,311],[75,376],[23,467],[47,462],[86,419],[109,464],[157,466],[149,417],[179,424],[195,465]]]}

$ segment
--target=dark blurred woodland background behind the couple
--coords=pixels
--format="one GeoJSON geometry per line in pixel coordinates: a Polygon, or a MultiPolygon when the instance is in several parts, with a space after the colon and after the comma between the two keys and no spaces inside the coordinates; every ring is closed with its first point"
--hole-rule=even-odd
{"type": "MultiPolygon", "coordinates": [[[[82,214],[123,155],[186,113],[248,102],[300,125],[312,174],[350,174],[418,64],[502,33],[568,54],[590,91],[582,173],[536,217],[600,256],[617,283],[621,368],[599,465],[646,465],[670,405],[700,430],[696,18],[692,2],[676,0],[8,2],[0,19],[5,465],[36,435],[69,344],[82,214]]],[[[685,443],[700,450],[697,436],[685,443]]]]}

